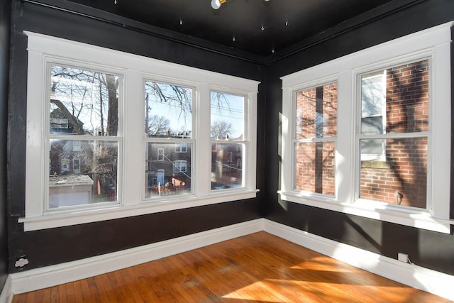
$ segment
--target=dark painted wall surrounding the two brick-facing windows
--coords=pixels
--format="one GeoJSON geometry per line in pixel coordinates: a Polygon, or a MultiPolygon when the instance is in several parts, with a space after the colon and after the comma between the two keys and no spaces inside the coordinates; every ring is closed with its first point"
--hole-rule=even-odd
{"type": "MultiPolygon", "coordinates": [[[[336,211],[311,206],[279,202],[279,113],[282,112],[282,82],[279,77],[306,67],[353,53],[357,50],[398,38],[399,36],[454,20],[454,1],[414,1],[414,5],[402,11],[363,23],[351,31],[338,28],[340,35],[333,36],[300,52],[277,53],[270,57],[272,69],[267,72],[266,89],[266,152],[268,165],[265,175],[265,217],[302,231],[330,238],[355,247],[397,258],[397,253],[409,253],[416,265],[440,272],[454,274],[454,236],[408,226],[400,226],[360,216],[341,214],[336,211]]],[[[336,31],[332,31],[335,33],[336,31]]],[[[313,43],[313,41],[311,41],[313,43]]],[[[301,45],[302,47],[302,45],[301,45]]],[[[451,57],[453,55],[451,54],[451,57]]],[[[453,64],[451,59],[451,65],[453,64]]],[[[451,163],[454,162],[454,158],[451,163]]],[[[453,180],[453,179],[452,179],[453,180]]],[[[453,185],[451,185],[451,188],[453,185]]],[[[452,192],[452,189],[451,189],[452,192]]],[[[453,199],[451,199],[452,201],[453,199]]],[[[451,202],[451,217],[454,205],[451,202]]]]}

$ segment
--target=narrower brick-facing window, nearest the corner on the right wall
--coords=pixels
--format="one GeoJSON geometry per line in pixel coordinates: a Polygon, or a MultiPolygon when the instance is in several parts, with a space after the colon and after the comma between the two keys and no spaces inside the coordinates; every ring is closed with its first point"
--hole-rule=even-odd
{"type": "Polygon", "coordinates": [[[294,93],[294,189],[335,194],[335,143],[338,84],[318,85],[294,93]]]}

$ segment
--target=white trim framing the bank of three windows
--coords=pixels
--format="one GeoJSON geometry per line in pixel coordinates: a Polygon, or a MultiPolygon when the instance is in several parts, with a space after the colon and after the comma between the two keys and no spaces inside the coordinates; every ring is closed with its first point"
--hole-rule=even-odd
{"type": "MultiPolygon", "coordinates": [[[[223,75],[216,72],[199,70],[194,67],[177,65],[170,62],[155,60],[139,55],[123,53],[117,50],[100,48],[71,40],[55,38],[48,35],[24,32],[28,36],[28,92],[27,92],[27,133],[26,133],[26,216],[18,221],[24,224],[25,231],[43,228],[84,224],[94,221],[153,214],[160,211],[184,209],[193,206],[215,204],[240,199],[256,197],[256,133],[257,133],[257,92],[260,82],[240,77],[223,75]],[[89,208],[79,208],[62,211],[45,212],[45,178],[48,167],[48,150],[45,150],[43,138],[46,130],[45,117],[47,99],[46,64],[54,62],[80,62],[81,66],[101,67],[102,70],[116,70],[124,75],[123,96],[128,100],[128,106],[121,105],[120,124],[118,132],[123,139],[119,147],[123,158],[119,158],[119,176],[123,180],[123,189],[118,189],[118,203],[99,205],[89,208]],[[153,74],[152,74],[153,73],[153,74]],[[137,119],[138,113],[143,114],[143,79],[153,75],[154,79],[167,79],[171,82],[196,83],[197,114],[209,116],[210,88],[221,87],[225,91],[235,89],[248,96],[248,155],[244,159],[247,163],[245,179],[246,184],[242,189],[229,192],[211,192],[210,170],[211,163],[206,161],[211,157],[209,119],[197,119],[197,136],[205,140],[197,140],[193,164],[197,163],[197,170],[193,174],[196,187],[191,195],[184,197],[165,197],[153,201],[143,200],[145,180],[145,161],[137,157],[137,146],[143,145],[143,119],[137,119]],[[205,107],[207,107],[205,109],[205,107]],[[127,125],[127,127],[123,127],[127,125]],[[208,130],[208,133],[206,133],[208,130]],[[43,157],[45,155],[45,157],[43,157]],[[120,172],[120,165],[123,170],[120,172]],[[46,167],[45,167],[46,166],[46,167]],[[207,184],[204,184],[207,182],[207,184]]],[[[124,102],[123,102],[124,104],[124,102]]]]}

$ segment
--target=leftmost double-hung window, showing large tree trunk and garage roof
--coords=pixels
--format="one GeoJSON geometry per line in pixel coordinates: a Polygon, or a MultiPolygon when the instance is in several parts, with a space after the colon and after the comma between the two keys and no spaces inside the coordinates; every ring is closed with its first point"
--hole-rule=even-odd
{"type": "Polygon", "coordinates": [[[120,139],[114,138],[121,75],[57,63],[47,67],[50,174],[45,210],[116,202],[120,139]]]}

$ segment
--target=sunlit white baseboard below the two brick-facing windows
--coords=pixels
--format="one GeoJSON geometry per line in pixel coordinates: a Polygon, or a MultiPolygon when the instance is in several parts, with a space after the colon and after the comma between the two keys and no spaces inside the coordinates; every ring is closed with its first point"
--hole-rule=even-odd
{"type": "Polygon", "coordinates": [[[263,230],[336,260],[373,272],[376,275],[436,294],[439,297],[454,300],[453,275],[399,262],[393,258],[322,238],[267,219],[264,219],[263,230]]]}

